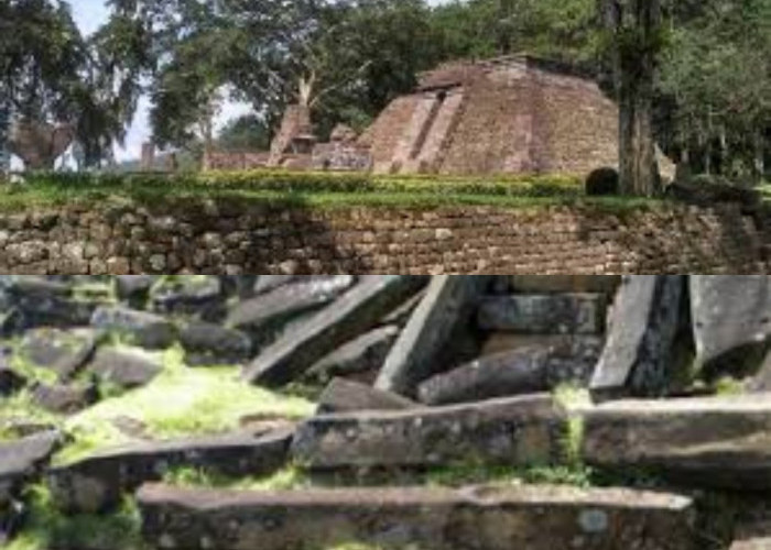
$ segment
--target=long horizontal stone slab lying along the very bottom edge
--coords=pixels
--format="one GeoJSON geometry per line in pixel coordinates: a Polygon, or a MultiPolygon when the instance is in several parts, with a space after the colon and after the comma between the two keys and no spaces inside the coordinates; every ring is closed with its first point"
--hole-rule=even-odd
{"type": "Polygon", "coordinates": [[[145,485],[153,547],[207,550],[693,550],[689,498],[553,486],[235,492],[145,485]]]}

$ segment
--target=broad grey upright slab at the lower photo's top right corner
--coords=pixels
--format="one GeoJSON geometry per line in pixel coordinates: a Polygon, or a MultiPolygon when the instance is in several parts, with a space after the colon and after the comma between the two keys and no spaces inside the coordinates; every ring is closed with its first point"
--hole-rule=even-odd
{"type": "Polygon", "coordinates": [[[689,280],[698,365],[757,367],[771,342],[771,277],[691,275],[689,280]]]}

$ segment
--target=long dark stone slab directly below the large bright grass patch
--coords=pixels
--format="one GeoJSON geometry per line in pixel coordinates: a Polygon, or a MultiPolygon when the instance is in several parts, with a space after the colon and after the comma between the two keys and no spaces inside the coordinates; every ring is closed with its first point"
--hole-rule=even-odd
{"type": "Polygon", "coordinates": [[[284,464],[291,439],[292,431],[282,430],[124,447],[52,470],[50,486],[64,510],[96,513],[119,504],[126,492],[162,480],[173,466],[234,476],[271,473],[284,464]]]}

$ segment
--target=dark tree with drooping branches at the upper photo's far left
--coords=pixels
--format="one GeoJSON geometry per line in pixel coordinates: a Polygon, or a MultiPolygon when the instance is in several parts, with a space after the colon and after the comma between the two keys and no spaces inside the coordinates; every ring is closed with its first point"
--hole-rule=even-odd
{"type": "Polygon", "coordinates": [[[62,133],[72,131],[84,160],[95,165],[124,131],[122,106],[65,1],[0,4],[0,103],[10,111],[13,135],[22,136],[31,168],[53,168],[62,133]],[[53,133],[57,139],[46,138],[53,133]]]}

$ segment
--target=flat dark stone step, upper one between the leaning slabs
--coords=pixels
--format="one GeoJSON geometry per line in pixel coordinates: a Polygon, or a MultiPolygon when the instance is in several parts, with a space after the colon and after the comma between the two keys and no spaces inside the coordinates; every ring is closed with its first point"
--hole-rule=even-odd
{"type": "Polygon", "coordinates": [[[523,334],[599,334],[605,331],[602,294],[522,294],[481,300],[482,330],[523,334]]]}

